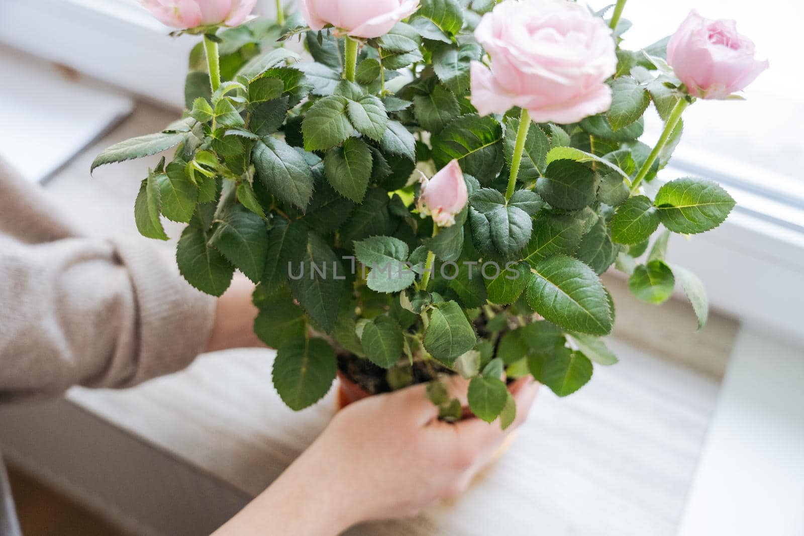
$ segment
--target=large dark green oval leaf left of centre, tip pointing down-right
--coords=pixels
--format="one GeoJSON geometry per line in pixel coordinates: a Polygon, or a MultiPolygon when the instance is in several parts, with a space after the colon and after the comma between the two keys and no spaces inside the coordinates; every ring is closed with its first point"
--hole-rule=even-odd
{"type": "Polygon", "coordinates": [[[252,162],[258,178],[285,203],[304,208],[313,194],[313,172],[305,158],[285,141],[265,136],[254,144],[252,162]]]}

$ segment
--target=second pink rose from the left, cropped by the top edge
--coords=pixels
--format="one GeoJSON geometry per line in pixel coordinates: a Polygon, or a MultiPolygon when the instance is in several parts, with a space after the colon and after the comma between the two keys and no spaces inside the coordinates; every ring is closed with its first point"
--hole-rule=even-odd
{"type": "Polygon", "coordinates": [[[364,39],[387,34],[418,8],[419,0],[301,0],[301,13],[313,30],[331,24],[335,35],[364,39]]]}

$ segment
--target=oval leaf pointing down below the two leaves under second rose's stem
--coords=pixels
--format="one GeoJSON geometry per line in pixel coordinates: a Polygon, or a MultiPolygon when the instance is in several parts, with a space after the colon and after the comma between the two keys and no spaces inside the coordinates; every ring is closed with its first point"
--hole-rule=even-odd
{"type": "Polygon", "coordinates": [[[343,147],[326,153],[324,173],[338,194],[360,203],[371,178],[371,150],[363,140],[350,137],[343,142],[343,147]]]}

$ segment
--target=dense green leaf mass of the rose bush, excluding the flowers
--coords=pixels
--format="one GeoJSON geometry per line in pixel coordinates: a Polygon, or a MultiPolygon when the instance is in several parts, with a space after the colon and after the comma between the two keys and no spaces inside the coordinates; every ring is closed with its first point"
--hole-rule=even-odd
{"type": "MultiPolygon", "coordinates": [[[[468,98],[470,61],[483,57],[471,31],[492,6],[423,0],[406,23],[362,43],[354,82],[342,75],[344,40],[293,17],[207,36],[220,46],[219,88],[197,48],[183,118],[92,164],[175,148],[142,181],[137,227],[167,239],[162,217],[187,223],[178,266],[205,293],[224,293],[236,269],[258,284],[256,333],[278,350],[273,383],[289,407],[321,399],[336,353],[348,353],[387,369],[395,387],[412,381],[414,362],[454,370],[470,378],[475,415],[507,426],[515,407],[503,378],[531,374],[565,396],[589,381],[593,362],[617,362],[601,339],[614,305],[599,276],[612,265],[650,303],[679,280],[704,325],[704,288],[666,260],[667,237],[718,226],[732,198],[697,178],[659,186],[680,126],[647,171],[646,193],[631,187],[651,151],[639,140],[643,114],[653,104],[667,119],[687,98],[662,69],[662,43],[618,48],[607,113],[530,124],[507,199],[519,110],[481,117],[468,98]],[[312,60],[277,41],[283,33],[312,60]],[[414,169],[453,159],[470,202],[433,235],[416,212],[414,169]],[[410,268],[384,269],[393,263],[410,268]]],[[[460,417],[443,384],[429,395],[445,419],[460,417]]]]}

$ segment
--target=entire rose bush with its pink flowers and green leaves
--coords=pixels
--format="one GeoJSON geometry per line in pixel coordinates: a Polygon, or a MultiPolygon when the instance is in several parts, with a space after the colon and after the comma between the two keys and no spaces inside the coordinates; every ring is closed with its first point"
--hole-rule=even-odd
{"type": "Polygon", "coordinates": [[[734,201],[658,174],[687,106],[767,67],[733,23],[693,12],[630,51],[625,0],[610,18],[568,0],[302,0],[276,22],[246,19],[253,1],[143,3],[203,35],[187,111],[92,169],[175,148],[142,181],[137,227],[167,239],[162,217],[187,223],[176,259],[205,293],[236,269],[257,284],[289,407],[339,372],[344,402],[429,382],[459,419],[439,378],[461,374],[469,410],[506,427],[506,378],[564,396],[617,361],[601,340],[613,266],[654,304],[680,283],[704,325],[704,288],[667,237],[717,227],[734,201]],[[665,122],[653,146],[649,109],[665,122]]]}

